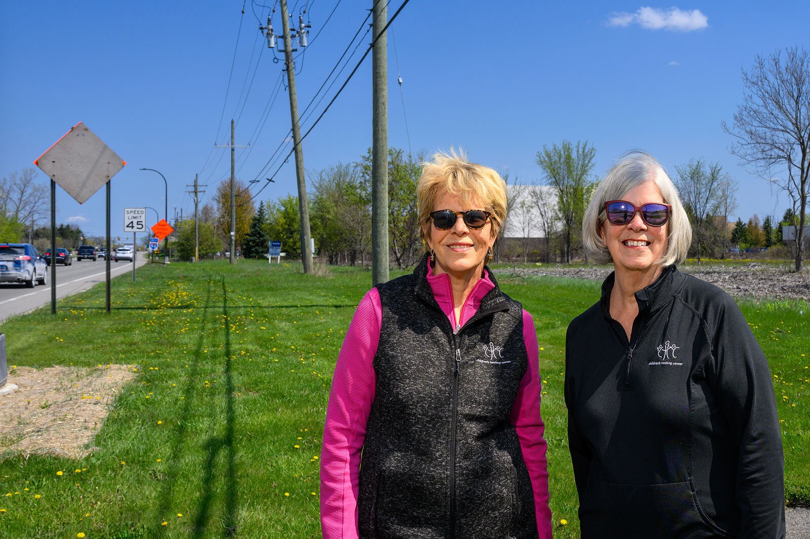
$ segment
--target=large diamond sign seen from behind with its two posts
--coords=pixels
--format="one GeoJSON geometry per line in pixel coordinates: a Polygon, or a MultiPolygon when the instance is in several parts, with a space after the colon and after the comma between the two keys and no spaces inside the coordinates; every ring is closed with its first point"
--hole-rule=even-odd
{"type": "MultiPolygon", "coordinates": [[[[96,137],[81,121],[62,135],[53,146],[34,160],[34,164],[51,179],[51,253],[56,254],[56,184],[83,204],[107,185],[107,312],[110,312],[109,290],[109,180],[126,161],[96,137]]],[[[51,257],[51,313],[56,314],[56,257],[51,257]]]]}

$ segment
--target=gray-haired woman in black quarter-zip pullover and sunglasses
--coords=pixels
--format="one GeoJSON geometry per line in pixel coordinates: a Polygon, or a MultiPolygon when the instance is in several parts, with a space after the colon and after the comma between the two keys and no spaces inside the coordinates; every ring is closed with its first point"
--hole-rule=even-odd
{"type": "Polygon", "coordinates": [[[614,268],[566,335],[582,537],[785,537],[767,360],[734,300],[676,269],[692,231],[659,162],[619,159],[582,237],[614,268]]]}

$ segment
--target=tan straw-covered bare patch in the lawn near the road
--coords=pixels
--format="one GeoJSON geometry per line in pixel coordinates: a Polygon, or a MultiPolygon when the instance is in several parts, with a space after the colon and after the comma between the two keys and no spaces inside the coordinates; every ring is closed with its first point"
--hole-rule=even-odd
{"type": "Polygon", "coordinates": [[[0,457],[87,456],[115,397],[135,376],[126,365],[9,368],[8,383],[18,388],[0,395],[0,457]]]}

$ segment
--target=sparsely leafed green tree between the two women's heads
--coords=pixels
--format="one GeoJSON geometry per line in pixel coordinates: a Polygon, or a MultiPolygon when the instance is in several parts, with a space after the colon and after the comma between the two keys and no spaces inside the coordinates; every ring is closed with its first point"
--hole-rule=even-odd
{"type": "Polygon", "coordinates": [[[596,149],[586,141],[577,146],[567,140],[561,146],[556,143],[551,148],[543,146],[537,152],[536,163],[543,169],[548,185],[557,191],[557,214],[563,225],[565,261],[571,261],[573,236],[582,228],[582,215],[585,214],[586,193],[591,182],[588,180],[594,168],[596,149]]]}

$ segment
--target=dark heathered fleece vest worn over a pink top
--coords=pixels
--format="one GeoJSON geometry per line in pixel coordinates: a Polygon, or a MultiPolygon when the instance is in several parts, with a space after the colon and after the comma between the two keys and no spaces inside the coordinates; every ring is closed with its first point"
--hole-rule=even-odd
{"type": "Polygon", "coordinates": [[[509,422],[527,371],[522,306],[496,282],[454,334],[426,263],[377,286],[382,329],[360,536],[537,537],[531,480],[509,422]]]}

